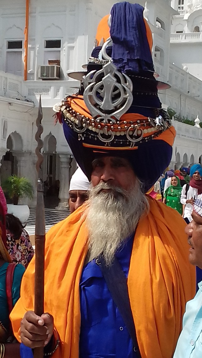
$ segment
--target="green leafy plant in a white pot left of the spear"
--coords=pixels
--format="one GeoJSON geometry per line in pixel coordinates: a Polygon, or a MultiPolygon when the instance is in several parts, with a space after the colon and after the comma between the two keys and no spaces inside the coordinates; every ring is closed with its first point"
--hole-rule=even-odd
{"type": "Polygon", "coordinates": [[[1,186],[6,197],[13,199],[13,204],[7,204],[8,213],[17,216],[22,223],[25,223],[29,217],[29,207],[28,205],[18,205],[18,201],[22,197],[33,198],[34,188],[29,179],[24,176],[11,175],[4,180],[1,186]]]}

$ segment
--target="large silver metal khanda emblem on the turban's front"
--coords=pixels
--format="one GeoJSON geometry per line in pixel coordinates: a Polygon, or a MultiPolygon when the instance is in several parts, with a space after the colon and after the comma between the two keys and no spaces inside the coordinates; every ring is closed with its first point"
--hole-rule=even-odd
{"type": "Polygon", "coordinates": [[[132,105],[132,81],[126,74],[117,71],[112,62],[99,71],[88,73],[84,88],[85,104],[92,117],[99,122],[116,123],[132,105]]]}

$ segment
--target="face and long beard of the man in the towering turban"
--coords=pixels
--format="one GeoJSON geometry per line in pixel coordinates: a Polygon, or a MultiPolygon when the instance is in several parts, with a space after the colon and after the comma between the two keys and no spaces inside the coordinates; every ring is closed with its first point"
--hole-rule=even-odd
{"type": "Polygon", "coordinates": [[[149,204],[126,159],[104,157],[95,159],[92,166],[89,207],[84,214],[89,231],[89,261],[103,255],[110,265],[149,204]]]}

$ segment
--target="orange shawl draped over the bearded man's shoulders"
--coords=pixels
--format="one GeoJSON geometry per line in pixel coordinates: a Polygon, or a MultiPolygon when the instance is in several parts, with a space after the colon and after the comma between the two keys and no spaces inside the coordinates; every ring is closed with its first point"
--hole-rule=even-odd
{"type": "MultiPolygon", "coordinates": [[[[185,303],[196,292],[195,268],[188,263],[185,223],[177,211],[149,198],[150,212],[138,223],[128,291],[142,358],[170,358],[181,330],[185,303]]],[[[47,234],[45,312],[54,317],[61,339],[54,358],[78,358],[79,282],[88,250],[84,204],[47,234]]],[[[11,320],[19,340],[20,321],[33,310],[34,258],[24,274],[21,298],[11,320]]]]}

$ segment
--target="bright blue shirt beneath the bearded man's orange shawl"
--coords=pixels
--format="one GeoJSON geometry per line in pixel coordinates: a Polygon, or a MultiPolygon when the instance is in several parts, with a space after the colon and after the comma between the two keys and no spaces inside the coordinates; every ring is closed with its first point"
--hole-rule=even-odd
{"type": "MultiPolygon", "coordinates": [[[[116,257],[128,276],[134,234],[116,257]]],[[[95,260],[83,269],[80,280],[80,358],[136,358],[125,323],[95,260]]]]}

